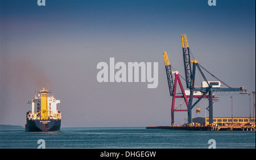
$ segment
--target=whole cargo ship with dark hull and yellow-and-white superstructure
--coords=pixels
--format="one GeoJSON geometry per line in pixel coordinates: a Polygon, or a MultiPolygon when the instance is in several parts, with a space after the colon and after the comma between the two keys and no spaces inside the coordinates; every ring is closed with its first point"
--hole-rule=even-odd
{"type": "Polygon", "coordinates": [[[49,96],[48,90],[42,88],[35,94],[31,101],[31,111],[27,112],[25,131],[26,132],[48,132],[60,131],[61,112],[57,110],[57,103],[53,96],[49,96]]]}

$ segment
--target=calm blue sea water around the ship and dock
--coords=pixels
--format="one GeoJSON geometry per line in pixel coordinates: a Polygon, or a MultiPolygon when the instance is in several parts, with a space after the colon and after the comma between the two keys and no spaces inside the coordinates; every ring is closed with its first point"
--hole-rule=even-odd
{"type": "Polygon", "coordinates": [[[0,148],[254,148],[255,131],[183,131],[146,128],[61,128],[61,132],[0,129],[0,148]]]}

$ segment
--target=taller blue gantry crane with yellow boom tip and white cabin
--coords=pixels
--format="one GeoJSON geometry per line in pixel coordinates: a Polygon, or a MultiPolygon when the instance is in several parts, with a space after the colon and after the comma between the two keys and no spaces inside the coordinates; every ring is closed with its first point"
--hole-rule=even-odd
{"type": "Polygon", "coordinates": [[[208,94],[208,100],[209,100],[209,123],[213,123],[213,92],[222,91],[222,92],[240,92],[241,94],[246,94],[246,90],[243,87],[229,87],[226,83],[218,79],[216,76],[214,76],[212,73],[207,71],[203,66],[201,66],[198,63],[198,60],[193,59],[191,60],[191,51],[188,46],[188,40],[186,34],[181,35],[181,41],[182,41],[182,48],[183,48],[183,60],[184,60],[184,70],[185,70],[185,80],[187,84],[187,88],[190,90],[189,95],[189,101],[188,101],[188,123],[192,123],[192,115],[191,111],[193,107],[203,98],[205,95],[208,94]],[[192,65],[191,65],[192,64],[192,65]],[[192,67],[191,67],[192,66],[192,67]],[[201,87],[195,87],[195,75],[196,75],[196,67],[198,68],[199,72],[204,78],[204,82],[202,82],[201,87]],[[218,81],[208,81],[201,70],[207,71],[211,76],[213,76],[218,81]],[[218,83],[218,84],[217,84],[218,83]],[[220,83],[226,85],[226,87],[220,87],[220,83]],[[204,85],[203,85],[204,84],[204,85]],[[202,93],[202,96],[192,104],[193,102],[193,92],[200,91],[202,93]]]}

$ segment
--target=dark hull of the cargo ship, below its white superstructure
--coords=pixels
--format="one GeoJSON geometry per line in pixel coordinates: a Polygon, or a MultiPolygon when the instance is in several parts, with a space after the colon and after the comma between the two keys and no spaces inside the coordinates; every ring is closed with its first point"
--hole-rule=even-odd
{"type": "Polygon", "coordinates": [[[36,119],[28,120],[25,124],[26,132],[48,132],[48,131],[60,131],[61,119],[36,119]]]}

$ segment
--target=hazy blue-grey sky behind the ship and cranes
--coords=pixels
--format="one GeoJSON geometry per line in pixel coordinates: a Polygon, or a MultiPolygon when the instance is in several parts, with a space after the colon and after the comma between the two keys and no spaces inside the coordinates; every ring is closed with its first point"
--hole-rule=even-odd
{"type": "MultiPolygon", "coordinates": [[[[255,90],[255,1],[0,2],[0,124],[23,125],[31,109],[26,101],[43,86],[61,100],[63,127],[170,124],[163,51],[184,76],[181,34],[207,70],[230,86],[255,90]],[[110,57],[158,62],[158,88],[98,83],[97,64],[110,57]]],[[[230,116],[230,94],[220,99],[213,115],[230,116]]],[[[234,116],[249,116],[249,96],[234,94],[233,102],[234,116]]],[[[204,116],[204,101],[199,107],[193,117],[204,116]]],[[[177,124],[187,118],[175,114],[177,124]]]]}

